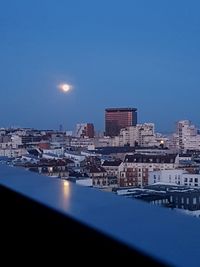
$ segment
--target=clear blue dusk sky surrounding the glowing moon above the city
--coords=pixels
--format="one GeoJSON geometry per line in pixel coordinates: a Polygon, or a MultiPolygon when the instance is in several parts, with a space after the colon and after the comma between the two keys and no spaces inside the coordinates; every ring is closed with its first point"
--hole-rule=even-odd
{"type": "Polygon", "coordinates": [[[1,0],[0,127],[103,130],[107,107],[136,107],[157,131],[199,126],[199,10],[198,0],[1,0]]]}

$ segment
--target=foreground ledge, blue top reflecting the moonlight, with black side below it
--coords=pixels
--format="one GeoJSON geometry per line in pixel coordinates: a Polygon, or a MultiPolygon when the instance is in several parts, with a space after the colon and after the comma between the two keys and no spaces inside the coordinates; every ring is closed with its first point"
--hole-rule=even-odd
{"type": "Polygon", "coordinates": [[[0,165],[0,214],[8,262],[199,266],[199,219],[24,169],[0,165]]]}

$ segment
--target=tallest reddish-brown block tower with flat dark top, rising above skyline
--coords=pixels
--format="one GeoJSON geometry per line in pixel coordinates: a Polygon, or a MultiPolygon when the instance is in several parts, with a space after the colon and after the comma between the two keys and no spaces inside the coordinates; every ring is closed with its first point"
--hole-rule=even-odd
{"type": "Polygon", "coordinates": [[[136,108],[107,108],[105,110],[105,135],[117,136],[124,127],[137,124],[136,108]]]}

